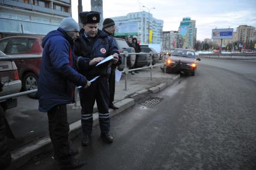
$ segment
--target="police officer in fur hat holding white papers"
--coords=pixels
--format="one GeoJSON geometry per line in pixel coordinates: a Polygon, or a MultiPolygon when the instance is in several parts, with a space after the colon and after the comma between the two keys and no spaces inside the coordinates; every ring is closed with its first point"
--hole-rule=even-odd
{"type": "Polygon", "coordinates": [[[93,106],[95,100],[99,111],[99,123],[103,141],[113,142],[110,130],[109,107],[109,86],[108,75],[111,71],[111,64],[118,62],[118,49],[115,46],[113,38],[109,37],[98,28],[100,14],[96,11],[86,11],[79,14],[83,28],[80,32],[80,38],[76,41],[75,54],[78,56],[76,63],[80,73],[93,79],[100,76],[91,86],[84,90],[79,90],[81,110],[81,124],[84,136],[82,145],[91,144],[91,133],[93,129],[93,106]],[[88,67],[87,62],[96,57],[106,58],[113,55],[114,59],[105,62],[99,66],[88,67]]]}

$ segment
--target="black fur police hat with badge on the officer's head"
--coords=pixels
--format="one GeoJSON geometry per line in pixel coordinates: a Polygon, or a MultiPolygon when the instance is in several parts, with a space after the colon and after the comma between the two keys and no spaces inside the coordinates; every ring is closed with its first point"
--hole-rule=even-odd
{"type": "Polygon", "coordinates": [[[85,23],[99,23],[100,13],[97,11],[85,11],[79,13],[80,20],[83,24],[85,23]]]}

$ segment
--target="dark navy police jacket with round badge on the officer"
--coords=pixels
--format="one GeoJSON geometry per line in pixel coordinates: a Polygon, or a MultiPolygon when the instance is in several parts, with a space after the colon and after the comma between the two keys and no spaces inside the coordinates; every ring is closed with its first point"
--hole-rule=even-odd
{"type": "MultiPolygon", "coordinates": [[[[97,35],[94,38],[88,38],[84,34],[84,29],[80,31],[80,37],[75,41],[74,52],[76,55],[76,68],[79,72],[84,74],[87,79],[93,79],[96,76],[106,76],[109,74],[108,64],[89,65],[93,58],[103,57],[118,53],[118,48],[114,39],[106,32],[98,29],[97,35]]],[[[119,55],[118,64],[121,64],[121,56],[119,55]]]]}

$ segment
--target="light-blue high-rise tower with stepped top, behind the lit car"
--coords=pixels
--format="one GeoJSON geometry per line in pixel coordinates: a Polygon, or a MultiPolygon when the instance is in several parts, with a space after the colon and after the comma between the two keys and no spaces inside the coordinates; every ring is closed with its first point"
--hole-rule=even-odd
{"type": "Polygon", "coordinates": [[[184,17],[180,22],[178,32],[183,38],[182,47],[193,49],[195,46],[195,41],[197,41],[197,28],[195,28],[195,20],[191,20],[190,17],[184,17]]]}

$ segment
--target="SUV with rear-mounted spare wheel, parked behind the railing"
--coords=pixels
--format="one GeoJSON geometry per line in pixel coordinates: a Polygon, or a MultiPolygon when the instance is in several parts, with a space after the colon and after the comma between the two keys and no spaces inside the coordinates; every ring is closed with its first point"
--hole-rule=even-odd
{"type": "MultiPolygon", "coordinates": [[[[126,40],[124,40],[122,38],[114,38],[114,40],[115,40],[115,43],[117,44],[118,51],[120,53],[123,53],[124,51],[127,51],[129,53],[135,53],[135,49],[133,47],[129,47],[126,40]]],[[[118,70],[123,70],[124,69],[125,55],[121,55],[121,56],[122,56],[122,64],[118,65],[118,70]]],[[[127,68],[130,68],[134,65],[135,59],[136,59],[135,54],[127,56],[127,68]]]]}

